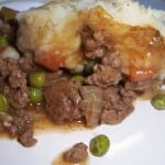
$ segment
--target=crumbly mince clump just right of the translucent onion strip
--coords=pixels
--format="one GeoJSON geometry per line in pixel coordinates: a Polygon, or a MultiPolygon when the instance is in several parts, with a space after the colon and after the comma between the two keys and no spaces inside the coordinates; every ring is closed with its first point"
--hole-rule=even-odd
{"type": "Polygon", "coordinates": [[[125,117],[133,111],[133,100],[135,94],[123,87],[109,87],[103,90],[101,123],[116,124],[120,123],[125,117]]]}

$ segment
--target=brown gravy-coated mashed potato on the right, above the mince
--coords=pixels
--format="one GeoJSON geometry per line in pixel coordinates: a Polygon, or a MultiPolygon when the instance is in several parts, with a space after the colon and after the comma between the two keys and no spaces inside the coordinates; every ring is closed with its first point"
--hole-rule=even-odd
{"type": "Polygon", "coordinates": [[[154,78],[163,67],[165,45],[155,29],[116,22],[101,7],[90,9],[82,16],[85,24],[96,32],[101,31],[105,38],[111,43],[111,50],[119,52],[121,69],[131,80],[154,78]]]}

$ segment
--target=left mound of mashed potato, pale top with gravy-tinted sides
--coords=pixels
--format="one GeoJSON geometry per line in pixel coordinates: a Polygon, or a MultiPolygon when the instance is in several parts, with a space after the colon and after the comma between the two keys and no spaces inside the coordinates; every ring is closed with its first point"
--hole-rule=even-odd
{"type": "Polygon", "coordinates": [[[74,54],[65,63],[68,68],[76,67],[80,61],[80,22],[78,12],[70,3],[48,3],[20,13],[18,19],[21,25],[18,45],[22,51],[33,52],[36,56],[46,52],[63,57],[74,54]],[[72,64],[73,58],[75,65],[72,64]]]}

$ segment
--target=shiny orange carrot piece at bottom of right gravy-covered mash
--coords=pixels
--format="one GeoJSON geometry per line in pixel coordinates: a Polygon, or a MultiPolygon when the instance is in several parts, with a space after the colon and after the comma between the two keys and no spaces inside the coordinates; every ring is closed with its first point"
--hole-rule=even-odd
{"type": "Polygon", "coordinates": [[[155,69],[152,67],[136,68],[134,66],[131,66],[129,78],[132,81],[141,81],[141,80],[151,79],[154,77],[154,75],[155,75],[155,69]]]}

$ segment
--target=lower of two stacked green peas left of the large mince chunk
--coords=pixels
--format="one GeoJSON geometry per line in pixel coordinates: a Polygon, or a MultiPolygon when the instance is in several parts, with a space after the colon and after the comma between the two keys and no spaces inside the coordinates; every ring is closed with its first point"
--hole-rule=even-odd
{"type": "Polygon", "coordinates": [[[42,103],[43,101],[43,89],[30,87],[29,88],[29,98],[32,103],[42,103]]]}

